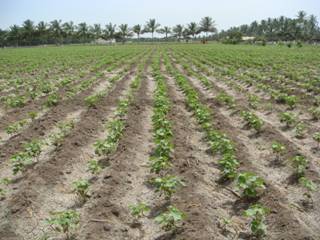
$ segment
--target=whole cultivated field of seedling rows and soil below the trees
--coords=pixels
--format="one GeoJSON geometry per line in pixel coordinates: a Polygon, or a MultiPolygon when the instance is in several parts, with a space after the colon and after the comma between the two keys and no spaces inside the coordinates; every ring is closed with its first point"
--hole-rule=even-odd
{"type": "Polygon", "coordinates": [[[1,240],[319,240],[320,48],[0,50],[1,240]]]}

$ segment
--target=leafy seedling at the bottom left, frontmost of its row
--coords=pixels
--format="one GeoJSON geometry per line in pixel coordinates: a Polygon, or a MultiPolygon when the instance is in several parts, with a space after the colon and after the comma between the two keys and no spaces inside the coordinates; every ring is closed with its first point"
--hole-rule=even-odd
{"type": "Polygon", "coordinates": [[[63,212],[51,212],[51,217],[47,223],[57,232],[66,235],[66,239],[71,239],[71,230],[75,229],[80,222],[80,214],[73,210],[63,212]]]}

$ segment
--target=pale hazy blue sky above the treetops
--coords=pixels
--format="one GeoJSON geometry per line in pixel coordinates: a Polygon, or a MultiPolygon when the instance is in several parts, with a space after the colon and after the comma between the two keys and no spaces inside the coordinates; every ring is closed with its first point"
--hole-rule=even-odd
{"type": "Polygon", "coordinates": [[[320,0],[0,0],[0,28],[26,19],[132,26],[156,18],[172,26],[211,16],[221,30],[267,17],[293,17],[299,10],[320,19],[320,0]]]}

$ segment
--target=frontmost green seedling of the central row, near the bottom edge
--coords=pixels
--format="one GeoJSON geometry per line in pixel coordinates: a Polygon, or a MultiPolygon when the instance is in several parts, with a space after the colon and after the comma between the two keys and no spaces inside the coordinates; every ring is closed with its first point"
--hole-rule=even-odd
{"type": "Polygon", "coordinates": [[[162,226],[166,231],[175,231],[178,228],[179,222],[182,222],[186,215],[174,206],[169,206],[168,210],[161,213],[155,218],[155,221],[162,226]]]}

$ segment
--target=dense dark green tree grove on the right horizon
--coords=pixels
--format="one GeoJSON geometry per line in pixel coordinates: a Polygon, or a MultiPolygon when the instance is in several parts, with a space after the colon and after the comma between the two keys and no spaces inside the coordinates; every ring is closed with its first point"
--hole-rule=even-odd
{"type": "Polygon", "coordinates": [[[251,24],[243,24],[232,27],[227,31],[221,31],[219,39],[240,39],[241,36],[255,37],[263,41],[320,41],[320,28],[315,15],[308,16],[306,12],[299,11],[295,18],[280,16],[253,21],[251,24]]]}

